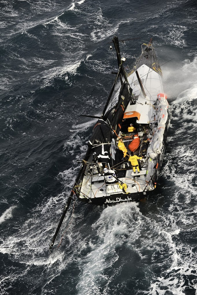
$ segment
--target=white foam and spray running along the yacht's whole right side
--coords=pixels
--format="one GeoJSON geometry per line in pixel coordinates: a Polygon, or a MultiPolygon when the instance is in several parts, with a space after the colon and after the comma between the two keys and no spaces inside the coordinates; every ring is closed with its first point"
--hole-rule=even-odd
{"type": "Polygon", "coordinates": [[[164,192],[166,194],[169,190],[173,192],[169,194],[168,200],[170,213],[159,208],[160,214],[157,215],[157,218],[160,218],[157,222],[158,227],[169,235],[168,242],[174,247],[174,251],[169,253],[169,257],[172,258],[169,268],[161,276],[152,279],[150,290],[144,291],[144,294],[148,295],[168,293],[184,295],[189,290],[193,292],[192,294],[197,294],[197,285],[194,283],[197,279],[196,245],[192,243],[188,245],[187,239],[178,238],[192,235],[197,226],[197,206],[193,205],[197,195],[194,181],[197,170],[194,147],[197,127],[197,113],[194,107],[197,99],[197,59],[185,60],[183,63],[181,66],[175,65],[169,71],[169,77],[172,77],[169,85],[172,91],[170,95],[173,97],[170,103],[172,107],[170,128],[173,128],[171,133],[174,134],[169,137],[170,153],[166,153],[165,157],[168,160],[161,173],[170,180],[171,185],[164,188],[164,192]]]}

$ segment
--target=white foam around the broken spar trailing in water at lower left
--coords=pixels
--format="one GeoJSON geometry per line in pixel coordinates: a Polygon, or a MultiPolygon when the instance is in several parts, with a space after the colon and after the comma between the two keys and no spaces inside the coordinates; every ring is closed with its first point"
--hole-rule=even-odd
{"type": "MultiPolygon", "coordinates": [[[[50,256],[48,253],[50,238],[58,222],[56,215],[59,210],[62,211],[62,203],[64,204],[65,202],[62,197],[62,195],[59,195],[51,199],[51,202],[46,204],[44,210],[42,210],[42,204],[36,209],[31,210],[31,214],[27,216],[27,220],[24,223],[20,223],[18,232],[8,236],[3,241],[1,240],[0,252],[8,254],[9,260],[17,262],[19,266],[10,269],[9,276],[4,276],[3,280],[0,281],[2,282],[0,292],[4,292],[2,294],[11,294],[8,286],[15,284],[23,277],[29,276],[29,272],[32,273],[37,269],[35,266],[44,267],[46,278],[43,281],[41,279],[41,288],[43,290],[41,294],[45,294],[45,289],[48,290],[49,283],[56,276],[59,276],[62,271],[65,271],[67,266],[76,259],[80,248],[83,247],[84,239],[77,241],[77,247],[71,245],[70,254],[68,255],[68,252],[66,252],[65,256],[64,251],[56,249],[60,239],[58,237],[54,251],[50,256]],[[51,210],[51,203],[54,203],[55,210],[51,210]],[[22,267],[20,267],[20,264],[22,267]]],[[[80,214],[82,211],[80,210],[80,214]]],[[[77,223],[83,219],[83,216],[79,216],[79,214],[76,214],[75,217],[77,223]]],[[[69,219],[69,215],[65,218],[64,225],[67,219],[69,219]]],[[[73,226],[75,227],[75,224],[70,224],[71,230],[67,232],[70,242],[73,242],[73,237],[74,242],[81,237],[78,232],[77,234],[73,233],[75,232],[73,226]]],[[[64,231],[65,227],[62,227],[62,230],[64,231]]],[[[62,235],[62,232],[60,234],[62,235]]],[[[48,294],[48,291],[46,293],[48,294]]]]}

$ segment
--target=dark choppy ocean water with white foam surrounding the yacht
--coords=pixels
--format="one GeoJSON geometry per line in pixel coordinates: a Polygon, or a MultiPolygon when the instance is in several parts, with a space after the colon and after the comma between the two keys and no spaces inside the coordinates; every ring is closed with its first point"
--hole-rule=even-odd
{"type": "Polygon", "coordinates": [[[197,294],[196,8],[0,1],[0,294],[197,294]],[[76,202],[49,256],[95,123],[80,114],[101,114],[111,90],[114,34],[139,38],[121,45],[130,67],[150,37],[164,64],[172,120],[159,185],[140,204],[76,202]]]}

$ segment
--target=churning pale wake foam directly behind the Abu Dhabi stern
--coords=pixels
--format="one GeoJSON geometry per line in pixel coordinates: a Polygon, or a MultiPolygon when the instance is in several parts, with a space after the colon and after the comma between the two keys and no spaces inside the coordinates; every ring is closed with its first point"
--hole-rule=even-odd
{"type": "MultiPolygon", "coordinates": [[[[118,255],[118,249],[122,247],[127,249],[127,260],[130,263],[133,260],[133,252],[140,257],[141,261],[146,260],[147,255],[154,261],[154,253],[158,251],[163,255],[169,255],[169,261],[164,258],[162,265],[171,262],[173,266],[176,266],[180,260],[172,240],[172,235],[177,235],[178,230],[171,234],[160,228],[156,222],[143,216],[135,203],[107,207],[92,228],[96,230],[99,241],[95,244],[90,240],[91,252],[79,261],[82,273],[77,289],[80,295],[109,293],[109,284],[121,276],[124,266],[124,262],[121,263],[118,255]],[[144,255],[144,249],[146,249],[146,255],[144,255]],[[112,276],[105,274],[108,273],[106,270],[112,269],[117,261],[119,268],[115,268],[112,276]],[[105,286],[103,290],[101,290],[101,284],[105,286]]],[[[150,266],[152,267],[153,265],[150,266]]]]}

